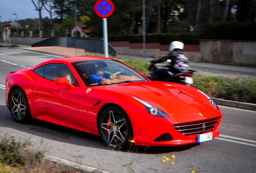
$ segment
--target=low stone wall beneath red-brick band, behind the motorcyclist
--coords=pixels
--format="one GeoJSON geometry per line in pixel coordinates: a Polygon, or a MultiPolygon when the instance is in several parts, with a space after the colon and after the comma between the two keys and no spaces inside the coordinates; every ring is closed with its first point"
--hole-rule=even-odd
{"type": "MultiPolygon", "coordinates": [[[[143,56],[143,49],[131,49],[129,47],[114,47],[117,54],[143,56]]],[[[146,57],[160,58],[165,56],[168,52],[160,51],[159,49],[146,49],[146,57]]],[[[200,61],[200,52],[182,52],[188,60],[200,61]]]]}

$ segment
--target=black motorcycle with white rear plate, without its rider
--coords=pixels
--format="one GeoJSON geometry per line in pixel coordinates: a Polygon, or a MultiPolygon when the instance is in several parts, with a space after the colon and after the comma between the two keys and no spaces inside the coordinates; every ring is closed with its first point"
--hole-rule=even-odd
{"type": "MultiPolygon", "coordinates": [[[[151,65],[149,66],[149,76],[147,76],[150,80],[154,80],[153,76],[154,73],[157,69],[160,68],[166,68],[167,65],[161,65],[161,66],[157,66],[154,63],[151,63],[151,65]]],[[[179,84],[185,84],[188,86],[191,86],[193,84],[193,78],[191,77],[193,75],[193,73],[196,72],[196,70],[183,70],[182,72],[178,73],[178,74],[173,74],[168,76],[167,78],[163,78],[164,82],[173,82],[173,83],[179,83],[179,84]],[[183,82],[184,80],[184,82],[183,82]]]]}

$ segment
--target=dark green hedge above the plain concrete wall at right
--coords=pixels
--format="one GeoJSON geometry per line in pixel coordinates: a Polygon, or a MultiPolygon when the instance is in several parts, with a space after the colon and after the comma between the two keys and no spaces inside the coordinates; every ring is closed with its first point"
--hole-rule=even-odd
{"type": "Polygon", "coordinates": [[[256,22],[213,22],[203,24],[200,39],[256,40],[256,22]]]}

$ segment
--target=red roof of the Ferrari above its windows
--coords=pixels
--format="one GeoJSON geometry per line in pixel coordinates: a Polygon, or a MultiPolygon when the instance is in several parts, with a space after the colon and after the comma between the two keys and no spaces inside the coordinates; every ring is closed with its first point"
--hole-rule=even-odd
{"type": "Polygon", "coordinates": [[[65,57],[65,58],[56,58],[53,60],[48,60],[45,62],[41,62],[40,64],[37,64],[31,68],[31,70],[35,70],[36,68],[43,66],[45,64],[52,64],[52,63],[63,63],[63,62],[77,62],[77,61],[83,61],[83,60],[97,60],[97,59],[110,59],[115,60],[113,58],[105,58],[105,57],[99,57],[99,56],[74,56],[74,57],[65,57]]]}

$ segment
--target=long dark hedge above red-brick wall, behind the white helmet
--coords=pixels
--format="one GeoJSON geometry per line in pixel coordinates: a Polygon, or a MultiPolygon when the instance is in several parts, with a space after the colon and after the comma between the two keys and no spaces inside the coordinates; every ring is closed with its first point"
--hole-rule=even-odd
{"type": "MultiPolygon", "coordinates": [[[[159,42],[161,44],[170,44],[172,41],[181,41],[184,44],[199,44],[199,34],[178,33],[178,34],[146,34],[147,43],[159,42]]],[[[143,35],[118,35],[108,36],[109,42],[129,41],[131,43],[142,43],[143,35]]]]}

